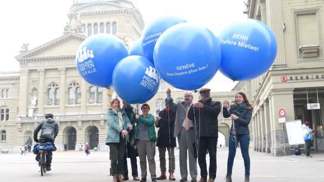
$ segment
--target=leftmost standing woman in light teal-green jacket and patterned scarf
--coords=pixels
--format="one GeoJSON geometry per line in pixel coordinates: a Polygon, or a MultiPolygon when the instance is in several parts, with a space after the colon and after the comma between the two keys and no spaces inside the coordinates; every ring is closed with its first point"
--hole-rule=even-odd
{"type": "Polygon", "coordinates": [[[112,109],[107,113],[108,130],[105,143],[110,148],[113,181],[123,182],[121,173],[123,170],[126,140],[129,140],[127,128],[132,130],[133,125],[125,111],[121,110],[118,99],[113,99],[111,106],[112,109]]]}

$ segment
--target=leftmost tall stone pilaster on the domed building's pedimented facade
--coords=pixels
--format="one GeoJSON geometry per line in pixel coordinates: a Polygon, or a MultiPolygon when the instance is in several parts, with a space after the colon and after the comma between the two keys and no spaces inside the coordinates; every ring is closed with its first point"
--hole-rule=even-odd
{"type": "Polygon", "coordinates": [[[19,83],[19,111],[17,116],[26,117],[28,115],[28,105],[30,98],[28,98],[28,69],[23,69],[20,71],[20,83],[19,83]]]}

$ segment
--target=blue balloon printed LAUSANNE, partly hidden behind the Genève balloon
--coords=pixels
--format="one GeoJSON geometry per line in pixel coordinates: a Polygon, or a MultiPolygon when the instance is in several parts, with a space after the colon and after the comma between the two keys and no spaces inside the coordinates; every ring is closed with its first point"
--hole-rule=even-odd
{"type": "Polygon", "coordinates": [[[153,62],[153,51],[157,39],[166,29],[183,22],[187,21],[181,17],[162,16],[146,26],[142,33],[142,47],[145,57],[153,62]]]}

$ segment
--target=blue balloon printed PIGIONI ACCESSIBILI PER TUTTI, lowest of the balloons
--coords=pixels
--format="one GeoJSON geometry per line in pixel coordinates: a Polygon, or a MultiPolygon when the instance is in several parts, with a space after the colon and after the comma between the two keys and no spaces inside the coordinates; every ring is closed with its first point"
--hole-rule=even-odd
{"type": "Polygon", "coordinates": [[[145,103],[156,94],[160,77],[153,63],[145,57],[122,59],[113,72],[113,85],[118,96],[128,103],[145,103]]]}

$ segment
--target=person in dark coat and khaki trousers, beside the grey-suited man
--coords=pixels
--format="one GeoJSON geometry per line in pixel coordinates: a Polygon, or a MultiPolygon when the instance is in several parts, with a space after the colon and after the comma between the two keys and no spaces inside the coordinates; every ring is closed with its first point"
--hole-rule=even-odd
{"type": "Polygon", "coordinates": [[[165,100],[165,104],[166,108],[163,111],[160,111],[158,116],[155,117],[155,126],[156,128],[159,128],[157,132],[156,147],[158,147],[161,170],[161,175],[156,179],[167,179],[166,150],[168,150],[169,179],[175,180],[173,175],[175,169],[174,148],[176,147],[175,137],[173,136],[175,111],[169,108],[168,99],[165,100]]]}

